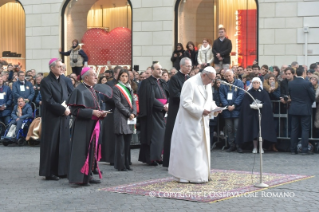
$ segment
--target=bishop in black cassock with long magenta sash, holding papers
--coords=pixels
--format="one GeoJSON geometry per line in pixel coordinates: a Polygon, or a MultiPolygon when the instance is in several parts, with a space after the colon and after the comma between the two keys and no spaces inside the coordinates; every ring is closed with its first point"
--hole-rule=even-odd
{"type": "MultiPolygon", "coordinates": [[[[81,72],[83,83],[78,85],[67,101],[71,113],[75,117],[71,136],[71,157],[69,169],[69,182],[80,185],[100,183],[94,180],[92,171],[97,165],[100,178],[102,178],[97,162],[101,158],[99,136],[100,120],[106,116],[101,111],[100,96],[94,89],[97,82],[95,72],[85,67],[81,72]]],[[[107,85],[105,85],[107,86],[107,85]]],[[[109,88],[111,89],[111,88],[109,88]]]]}

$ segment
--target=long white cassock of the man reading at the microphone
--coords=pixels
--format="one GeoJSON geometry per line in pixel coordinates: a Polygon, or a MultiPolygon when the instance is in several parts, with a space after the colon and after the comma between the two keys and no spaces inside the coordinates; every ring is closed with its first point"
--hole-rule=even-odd
{"type": "Polygon", "coordinates": [[[212,86],[203,84],[201,74],[184,83],[171,139],[169,174],[191,182],[208,181],[210,117],[203,116],[203,111],[216,107],[212,99],[212,86]]]}

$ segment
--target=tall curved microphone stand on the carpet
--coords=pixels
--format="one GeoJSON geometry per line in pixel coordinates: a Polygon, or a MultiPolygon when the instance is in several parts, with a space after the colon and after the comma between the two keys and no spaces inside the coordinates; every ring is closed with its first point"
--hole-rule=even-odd
{"type": "MultiPolygon", "coordinates": [[[[237,88],[239,90],[244,91],[246,94],[248,94],[250,96],[250,98],[253,99],[253,101],[255,102],[256,106],[258,105],[257,102],[256,102],[256,99],[248,91],[246,91],[245,89],[240,88],[240,87],[238,87],[236,85],[227,83],[227,82],[222,81],[222,80],[221,80],[221,84],[232,86],[234,88],[237,88]]],[[[263,156],[262,156],[262,153],[261,153],[263,139],[261,137],[261,113],[260,113],[260,109],[259,109],[258,106],[257,106],[257,108],[258,108],[258,122],[259,122],[259,138],[258,138],[258,140],[259,140],[259,155],[260,155],[260,183],[254,185],[254,186],[258,187],[258,188],[268,188],[268,185],[263,183],[263,156]]]]}

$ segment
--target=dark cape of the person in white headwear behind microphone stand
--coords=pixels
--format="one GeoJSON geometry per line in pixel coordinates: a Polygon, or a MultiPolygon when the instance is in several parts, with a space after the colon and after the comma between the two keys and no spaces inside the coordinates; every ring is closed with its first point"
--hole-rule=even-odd
{"type": "MultiPolygon", "coordinates": [[[[263,107],[261,112],[261,135],[263,140],[269,142],[277,142],[276,130],[274,125],[274,117],[271,108],[271,101],[269,94],[262,89],[250,89],[248,91],[255,99],[262,102],[263,107]]],[[[245,142],[252,142],[259,137],[259,122],[258,110],[251,109],[250,104],[253,102],[252,98],[245,94],[239,115],[238,129],[236,142],[242,144],[245,142]]]]}

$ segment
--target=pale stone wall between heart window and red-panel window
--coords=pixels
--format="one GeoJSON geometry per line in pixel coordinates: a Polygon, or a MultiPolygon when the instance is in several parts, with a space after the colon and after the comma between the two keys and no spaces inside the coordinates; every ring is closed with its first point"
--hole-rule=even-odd
{"type": "Polygon", "coordinates": [[[145,70],[153,61],[172,67],[174,6],[176,0],[131,0],[133,11],[133,65],[145,70]]]}

